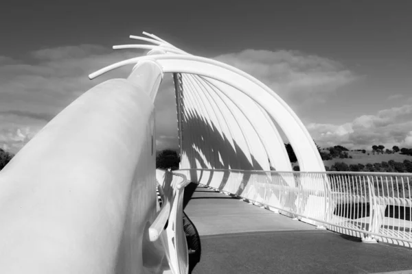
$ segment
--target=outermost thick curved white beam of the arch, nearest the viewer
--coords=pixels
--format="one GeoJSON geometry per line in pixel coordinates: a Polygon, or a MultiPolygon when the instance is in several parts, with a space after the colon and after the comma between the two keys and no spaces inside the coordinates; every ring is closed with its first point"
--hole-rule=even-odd
{"type": "MultiPolygon", "coordinates": [[[[107,66],[106,68],[89,75],[96,77],[107,71],[111,71],[119,66],[124,66],[148,57],[132,58],[107,66]]],[[[325,171],[325,166],[320,158],[319,152],[314,145],[306,127],[296,116],[295,112],[278,96],[259,82],[257,79],[240,71],[233,66],[201,58],[192,55],[151,55],[150,58],[156,59],[163,66],[164,72],[179,72],[203,75],[216,79],[241,90],[249,97],[254,98],[268,114],[282,127],[282,130],[290,140],[290,144],[295,150],[301,171],[325,171]],[[242,83],[242,84],[239,84],[242,83]],[[254,92],[251,92],[253,90],[254,92]],[[273,100],[275,99],[275,100],[273,100]],[[271,102],[271,103],[269,103],[271,102]]]]}

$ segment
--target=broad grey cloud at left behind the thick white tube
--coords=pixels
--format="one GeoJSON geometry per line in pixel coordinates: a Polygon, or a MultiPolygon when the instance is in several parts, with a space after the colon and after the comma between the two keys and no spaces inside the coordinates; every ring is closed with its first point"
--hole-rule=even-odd
{"type": "Polygon", "coordinates": [[[137,55],[79,45],[33,51],[23,60],[0,56],[0,147],[19,151],[83,92],[106,79],[127,77],[131,66],[93,81],[89,73],[137,55]]]}

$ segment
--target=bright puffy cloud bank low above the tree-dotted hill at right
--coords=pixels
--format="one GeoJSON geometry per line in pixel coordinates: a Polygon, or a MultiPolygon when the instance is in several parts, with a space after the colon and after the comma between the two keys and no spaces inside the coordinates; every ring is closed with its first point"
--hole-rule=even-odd
{"type": "Polygon", "coordinates": [[[306,127],[321,147],[412,147],[412,105],[380,110],[375,115],[358,116],[352,122],[343,125],[310,123],[306,127]]]}

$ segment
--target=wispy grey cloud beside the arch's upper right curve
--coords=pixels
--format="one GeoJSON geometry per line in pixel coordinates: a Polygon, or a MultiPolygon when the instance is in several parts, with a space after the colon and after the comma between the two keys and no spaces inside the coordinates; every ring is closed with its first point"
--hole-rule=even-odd
{"type": "Polygon", "coordinates": [[[297,105],[324,102],[328,94],[356,79],[339,62],[300,51],[247,49],[219,55],[216,60],[253,75],[282,99],[297,105]]]}

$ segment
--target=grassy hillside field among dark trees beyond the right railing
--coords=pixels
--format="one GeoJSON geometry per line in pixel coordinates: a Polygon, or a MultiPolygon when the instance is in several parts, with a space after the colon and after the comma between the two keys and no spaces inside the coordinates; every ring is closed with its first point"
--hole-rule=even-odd
{"type": "Polygon", "coordinates": [[[400,153],[393,153],[393,154],[375,154],[372,155],[371,151],[366,151],[366,153],[362,153],[361,151],[347,151],[347,154],[352,156],[350,158],[334,158],[332,160],[323,161],[325,166],[332,166],[335,162],[344,162],[345,164],[374,164],[380,162],[388,162],[389,160],[393,160],[395,162],[403,162],[404,160],[412,161],[412,156],[403,155],[400,153]],[[367,155],[369,153],[369,155],[367,155]]]}

